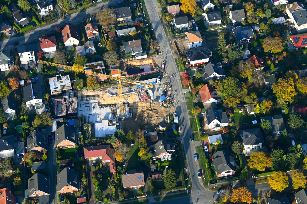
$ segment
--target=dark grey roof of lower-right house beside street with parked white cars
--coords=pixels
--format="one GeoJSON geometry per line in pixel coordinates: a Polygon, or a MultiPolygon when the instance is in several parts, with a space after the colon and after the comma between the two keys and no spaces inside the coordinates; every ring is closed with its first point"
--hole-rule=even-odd
{"type": "Polygon", "coordinates": [[[213,158],[213,163],[217,174],[221,174],[224,171],[229,170],[235,171],[235,160],[226,150],[217,151],[215,154],[213,154],[213,158]]]}

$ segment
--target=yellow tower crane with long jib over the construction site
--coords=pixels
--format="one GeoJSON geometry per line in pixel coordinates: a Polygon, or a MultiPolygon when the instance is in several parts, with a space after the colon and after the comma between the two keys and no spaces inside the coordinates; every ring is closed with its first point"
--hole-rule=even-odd
{"type": "Polygon", "coordinates": [[[48,65],[48,66],[61,67],[61,68],[66,69],[66,70],[71,70],[71,71],[75,71],[75,72],[82,72],[82,73],[85,73],[85,74],[88,74],[88,75],[103,76],[103,77],[106,77],[108,79],[116,80],[117,86],[118,86],[118,97],[119,97],[119,110],[120,110],[120,112],[124,111],[124,106],[123,106],[124,97],[122,96],[122,82],[126,82],[126,83],[129,83],[129,84],[135,84],[135,85],[142,85],[142,86],[146,86],[146,87],[149,87],[149,88],[153,88],[152,84],[144,84],[144,83],[141,83],[140,81],[122,79],[122,74],[121,74],[120,70],[118,70],[118,76],[117,77],[112,77],[112,76],[109,76],[107,74],[101,74],[101,73],[93,72],[91,70],[85,70],[85,67],[83,67],[83,69],[80,69],[81,67],[77,68],[77,67],[74,67],[74,66],[56,64],[56,63],[52,63],[52,62],[46,62],[46,61],[43,61],[43,60],[38,60],[37,62],[41,63],[41,64],[48,65]]]}

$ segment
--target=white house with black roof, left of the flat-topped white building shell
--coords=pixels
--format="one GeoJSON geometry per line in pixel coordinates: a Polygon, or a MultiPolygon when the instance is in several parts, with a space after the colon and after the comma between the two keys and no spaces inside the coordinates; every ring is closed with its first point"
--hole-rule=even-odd
{"type": "Polygon", "coordinates": [[[29,109],[44,109],[45,105],[43,103],[43,94],[41,93],[41,85],[39,84],[29,84],[22,87],[23,99],[25,100],[25,105],[29,109]]]}

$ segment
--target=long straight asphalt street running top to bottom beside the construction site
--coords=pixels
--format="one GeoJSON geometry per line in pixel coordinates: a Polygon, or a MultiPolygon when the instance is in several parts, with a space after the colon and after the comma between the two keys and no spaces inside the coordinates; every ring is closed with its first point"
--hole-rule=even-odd
{"type": "Polygon", "coordinates": [[[175,102],[177,105],[176,111],[179,116],[181,137],[187,157],[189,174],[192,181],[191,196],[185,198],[189,199],[189,201],[187,200],[186,203],[212,203],[212,201],[217,198],[216,192],[206,190],[203,186],[201,178],[198,178],[197,176],[197,172],[200,168],[198,166],[198,162],[194,161],[194,154],[196,151],[194,142],[190,140],[192,129],[190,125],[188,109],[186,106],[185,97],[183,95],[184,92],[181,86],[179,72],[169,47],[170,40],[172,39],[167,39],[165,36],[161,21],[157,14],[157,10],[160,10],[157,0],[146,0],[145,5],[150,17],[150,21],[153,25],[153,30],[159,43],[159,47],[161,48],[162,54],[165,57],[167,75],[172,77],[171,82],[175,93],[175,102]]]}

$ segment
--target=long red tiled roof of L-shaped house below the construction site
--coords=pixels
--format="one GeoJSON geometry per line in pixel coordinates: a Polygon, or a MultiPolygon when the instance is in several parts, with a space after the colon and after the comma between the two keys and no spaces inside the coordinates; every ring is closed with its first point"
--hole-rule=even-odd
{"type": "Polygon", "coordinates": [[[111,164],[115,163],[114,149],[111,149],[110,145],[83,147],[83,150],[84,158],[101,157],[102,161],[110,160],[111,164]]]}

